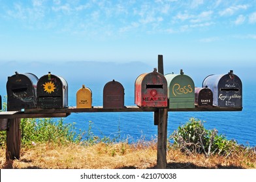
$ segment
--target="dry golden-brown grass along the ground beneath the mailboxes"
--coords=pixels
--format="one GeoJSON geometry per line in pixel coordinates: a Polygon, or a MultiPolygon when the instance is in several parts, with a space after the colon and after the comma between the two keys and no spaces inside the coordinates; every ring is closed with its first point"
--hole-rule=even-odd
{"type": "MultiPolygon", "coordinates": [[[[54,146],[38,144],[21,149],[20,160],[5,161],[5,149],[0,149],[0,168],[156,168],[157,149],[148,144],[94,144],[93,146],[54,146]]],[[[256,168],[256,154],[241,151],[229,157],[186,155],[176,149],[167,153],[167,168],[256,168]]]]}

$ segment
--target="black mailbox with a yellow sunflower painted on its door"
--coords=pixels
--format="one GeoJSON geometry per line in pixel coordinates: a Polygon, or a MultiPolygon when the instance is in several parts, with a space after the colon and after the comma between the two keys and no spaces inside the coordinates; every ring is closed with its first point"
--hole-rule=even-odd
{"type": "Polygon", "coordinates": [[[37,107],[42,109],[67,107],[67,94],[67,81],[49,72],[37,82],[37,107]]]}

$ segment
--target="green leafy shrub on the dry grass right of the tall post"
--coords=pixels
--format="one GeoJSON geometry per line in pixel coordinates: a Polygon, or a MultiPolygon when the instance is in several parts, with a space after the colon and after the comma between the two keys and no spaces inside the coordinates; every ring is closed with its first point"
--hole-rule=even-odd
{"type": "Polygon", "coordinates": [[[179,148],[187,153],[204,153],[206,157],[217,155],[229,155],[238,145],[232,140],[227,140],[224,135],[217,135],[217,130],[207,130],[203,122],[190,118],[185,125],[170,135],[173,140],[172,147],[179,148]]]}

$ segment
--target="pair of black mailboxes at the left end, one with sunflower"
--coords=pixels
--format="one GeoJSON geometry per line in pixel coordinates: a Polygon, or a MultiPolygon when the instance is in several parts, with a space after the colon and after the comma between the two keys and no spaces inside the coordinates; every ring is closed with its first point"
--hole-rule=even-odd
{"type": "Polygon", "coordinates": [[[7,110],[67,107],[67,89],[67,81],[50,72],[40,79],[16,72],[7,81],[7,110]]]}

